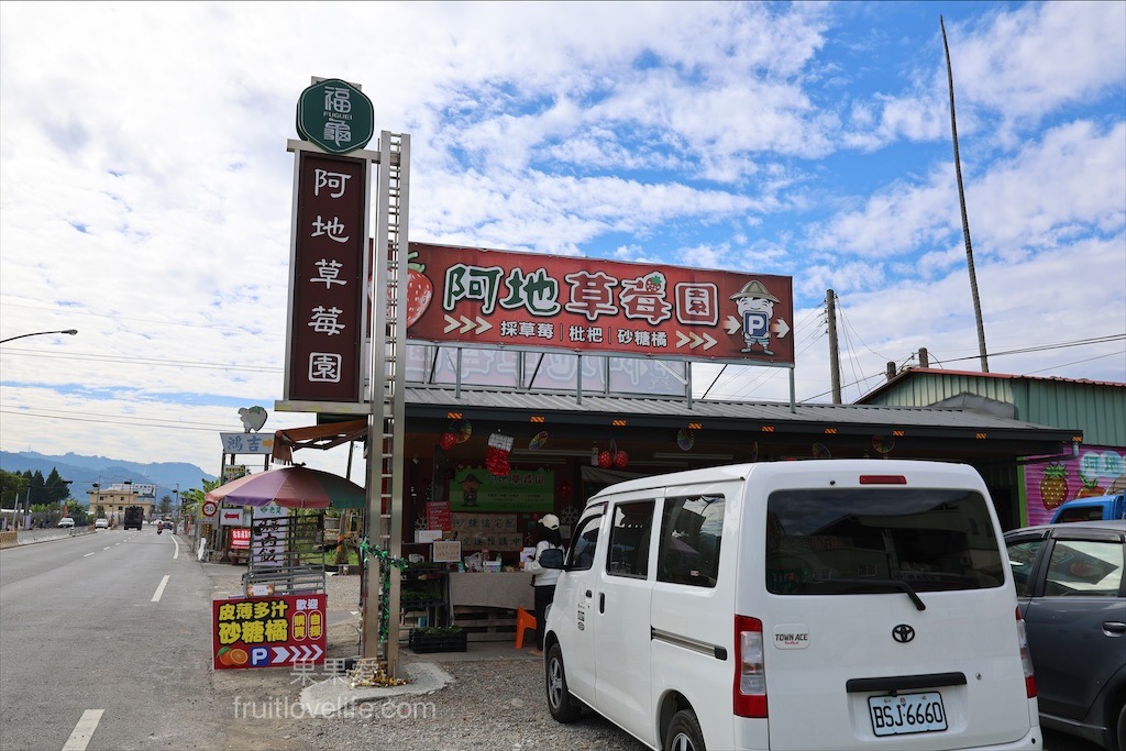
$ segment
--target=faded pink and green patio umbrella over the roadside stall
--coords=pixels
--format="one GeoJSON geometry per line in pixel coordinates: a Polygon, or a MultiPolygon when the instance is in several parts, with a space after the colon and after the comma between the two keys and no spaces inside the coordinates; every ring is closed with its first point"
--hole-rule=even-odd
{"type": "Polygon", "coordinates": [[[288,466],[247,475],[207,493],[208,501],[231,506],[269,506],[287,509],[359,509],[367,503],[363,488],[329,472],[288,466]]]}

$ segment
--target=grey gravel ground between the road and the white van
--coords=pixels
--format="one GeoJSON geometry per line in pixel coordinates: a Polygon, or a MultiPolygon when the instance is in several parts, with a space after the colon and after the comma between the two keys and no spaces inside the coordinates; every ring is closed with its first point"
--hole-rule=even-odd
{"type": "MultiPolygon", "coordinates": [[[[204,564],[213,593],[226,596],[241,589],[241,567],[204,564]]],[[[330,617],[359,608],[359,576],[330,576],[327,583],[330,617]]],[[[354,656],[359,649],[359,618],[330,619],[329,659],[354,656]]],[[[473,645],[470,646],[470,652],[473,645]]],[[[418,660],[406,645],[401,660],[418,660]]],[[[401,695],[357,704],[330,717],[303,715],[300,709],[284,717],[249,722],[258,731],[261,748],[304,751],[372,748],[396,751],[477,751],[598,749],[641,751],[645,746],[598,715],[587,712],[579,722],[561,725],[552,719],[544,696],[543,664],[537,660],[466,660],[443,662],[426,655],[452,678],[431,694],[401,695]],[[266,737],[262,737],[262,735],[266,737]]],[[[277,701],[293,707],[301,692],[291,673],[279,670],[215,671],[214,688],[221,695],[252,698],[266,706],[277,701]],[[220,673],[227,673],[221,676],[220,673]]],[[[278,705],[275,705],[275,708],[278,705]]],[[[249,728],[248,728],[249,730],[249,728]]],[[[248,748],[259,748],[249,744],[248,748]]]]}

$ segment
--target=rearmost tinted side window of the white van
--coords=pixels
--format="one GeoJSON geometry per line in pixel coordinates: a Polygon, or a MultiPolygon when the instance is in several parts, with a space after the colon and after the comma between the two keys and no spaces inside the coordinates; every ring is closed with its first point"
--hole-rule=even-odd
{"type": "Polygon", "coordinates": [[[722,495],[665,500],[656,556],[658,581],[715,587],[723,540],[723,501],[722,495]]]}

